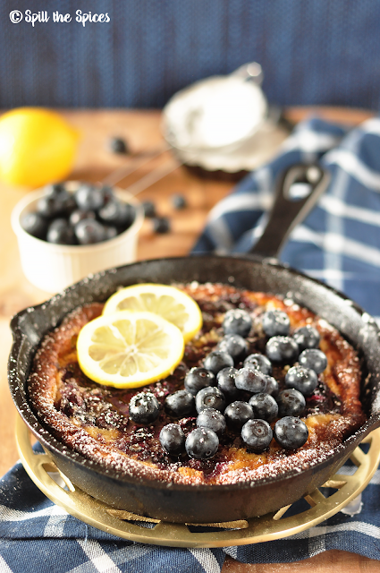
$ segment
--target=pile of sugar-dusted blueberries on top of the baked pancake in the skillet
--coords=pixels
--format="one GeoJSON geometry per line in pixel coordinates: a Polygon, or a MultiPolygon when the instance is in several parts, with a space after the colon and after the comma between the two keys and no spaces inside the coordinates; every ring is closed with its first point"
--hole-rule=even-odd
{"type": "MultiPolygon", "coordinates": [[[[187,373],[185,389],[165,399],[165,412],[173,418],[193,415],[197,410],[197,428],[185,437],[178,423],[169,423],[160,432],[162,447],[173,456],[186,451],[190,458],[212,458],[219,438],[228,428],[240,433],[249,449],[260,453],[273,437],[284,449],[300,448],[308,440],[308,427],[300,420],[305,397],[317,388],[318,374],[327,366],[319,350],[319,333],[307,325],[290,336],[286,312],[263,314],[266,355],[251,354],[247,337],[252,327],[249,312],[234,309],[225,313],[224,338],[206,356],[203,367],[187,373]],[[235,363],[242,363],[235,368],[235,363]],[[291,365],[285,375],[285,389],[279,391],[272,376],[273,365],[291,365]],[[270,425],[274,420],[274,428],[270,425]]],[[[150,392],[131,398],[130,417],[135,423],[153,423],[160,405],[150,392]]]]}

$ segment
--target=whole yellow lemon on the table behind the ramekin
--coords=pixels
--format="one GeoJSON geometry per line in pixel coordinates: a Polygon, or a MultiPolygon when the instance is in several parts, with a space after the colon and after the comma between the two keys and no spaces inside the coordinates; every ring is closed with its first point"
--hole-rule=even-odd
{"type": "Polygon", "coordinates": [[[0,180],[40,187],[72,170],[78,133],[54,111],[18,107],[0,117],[0,180]]]}

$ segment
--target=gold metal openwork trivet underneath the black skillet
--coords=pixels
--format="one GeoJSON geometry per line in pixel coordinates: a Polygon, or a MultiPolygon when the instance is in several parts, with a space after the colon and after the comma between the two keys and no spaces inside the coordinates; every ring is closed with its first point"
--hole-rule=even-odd
{"type": "MultiPolygon", "coordinates": [[[[87,493],[72,485],[57,469],[47,454],[35,454],[30,444],[30,432],[19,417],[16,423],[16,441],[21,462],[30,478],[41,492],[56,505],[61,506],[72,516],[90,526],[97,527],[109,534],[139,543],[154,543],[172,547],[225,547],[273,541],[288,537],[316,526],[321,521],[344,508],[364,490],[374,475],[380,461],[380,429],[371,432],[362,443],[368,443],[364,453],[359,447],[350,456],[358,467],[354,475],[336,474],[322,487],[336,488],[329,497],[316,489],[305,500],[310,506],[301,513],[283,517],[291,506],[280,509],[263,517],[253,517],[247,521],[234,521],[223,524],[202,524],[223,528],[223,531],[190,531],[195,524],[176,524],[139,517],[128,511],[111,508],[102,501],[95,500],[87,493]],[[65,488],[55,482],[49,474],[60,475],[65,488]],[[136,522],[150,522],[151,528],[140,526],[136,522]]],[[[58,480],[57,480],[58,481],[58,480]]]]}

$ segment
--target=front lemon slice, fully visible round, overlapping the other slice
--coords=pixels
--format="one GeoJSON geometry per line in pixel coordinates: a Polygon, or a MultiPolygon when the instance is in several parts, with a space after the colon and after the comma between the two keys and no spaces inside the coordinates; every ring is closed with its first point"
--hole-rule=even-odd
{"type": "Polygon", "coordinates": [[[165,378],[182,360],[180,329],[152,312],[121,311],[88,322],[77,341],[82,372],[99,384],[137,388],[165,378]]]}

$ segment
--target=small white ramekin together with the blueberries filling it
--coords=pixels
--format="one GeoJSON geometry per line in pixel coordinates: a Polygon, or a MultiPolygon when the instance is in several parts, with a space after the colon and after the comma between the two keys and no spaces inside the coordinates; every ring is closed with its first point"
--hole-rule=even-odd
{"type": "Polygon", "coordinates": [[[117,188],[71,181],[31,192],[12,213],[24,274],[54,293],[135,261],[143,218],[139,202],[117,188]]]}

